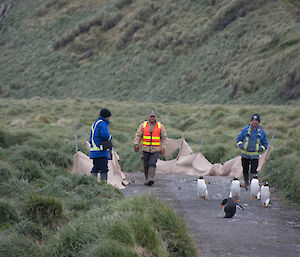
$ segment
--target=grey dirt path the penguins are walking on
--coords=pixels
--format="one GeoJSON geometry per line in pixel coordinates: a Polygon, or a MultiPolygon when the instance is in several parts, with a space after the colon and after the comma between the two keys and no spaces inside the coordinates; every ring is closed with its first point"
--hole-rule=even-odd
{"type": "Polygon", "coordinates": [[[126,175],[135,183],[123,190],[125,197],[152,194],[172,206],[186,220],[201,256],[300,256],[300,208],[283,206],[272,191],[272,205],[263,208],[242,189],[245,210],[224,219],[220,204],[229,195],[228,177],[206,177],[211,182],[208,200],[199,201],[193,182],[197,177],[157,175],[155,185],[147,187],[142,173],[126,175]]]}

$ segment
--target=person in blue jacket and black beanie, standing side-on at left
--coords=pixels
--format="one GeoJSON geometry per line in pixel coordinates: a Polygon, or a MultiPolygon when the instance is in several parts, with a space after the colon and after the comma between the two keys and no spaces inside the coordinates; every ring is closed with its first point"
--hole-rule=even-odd
{"type": "Polygon", "coordinates": [[[112,158],[112,149],[105,149],[105,147],[103,147],[105,141],[112,140],[108,129],[110,118],[111,112],[108,109],[102,109],[100,116],[91,127],[90,134],[90,159],[93,159],[91,173],[97,177],[100,172],[100,180],[104,182],[107,182],[108,160],[112,158]]]}

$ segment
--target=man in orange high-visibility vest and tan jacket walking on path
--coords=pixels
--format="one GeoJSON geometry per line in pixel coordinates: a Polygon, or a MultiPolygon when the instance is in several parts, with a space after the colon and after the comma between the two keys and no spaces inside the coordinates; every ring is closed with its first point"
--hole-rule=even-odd
{"type": "Polygon", "coordinates": [[[153,185],[157,159],[160,153],[165,153],[166,149],[167,132],[164,126],[156,120],[156,117],[156,112],[151,110],[148,120],[139,126],[134,139],[136,152],[139,151],[139,144],[142,142],[145,185],[147,186],[153,185]]]}

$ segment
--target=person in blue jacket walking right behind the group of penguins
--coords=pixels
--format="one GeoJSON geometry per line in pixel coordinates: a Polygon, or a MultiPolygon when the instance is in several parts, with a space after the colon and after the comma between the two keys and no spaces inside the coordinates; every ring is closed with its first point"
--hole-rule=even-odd
{"type": "Polygon", "coordinates": [[[245,186],[249,186],[249,165],[251,179],[257,175],[258,159],[268,148],[266,132],[260,126],[260,116],[255,113],[251,117],[251,123],[244,127],[236,138],[236,144],[241,149],[243,175],[245,186]]]}

